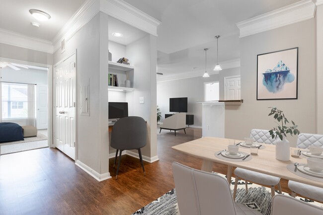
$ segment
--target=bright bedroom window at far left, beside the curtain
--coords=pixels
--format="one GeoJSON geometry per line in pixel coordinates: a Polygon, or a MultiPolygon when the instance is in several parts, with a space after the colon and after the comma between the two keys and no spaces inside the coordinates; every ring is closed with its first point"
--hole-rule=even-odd
{"type": "Polygon", "coordinates": [[[2,119],[28,118],[28,85],[2,82],[1,87],[2,119]]]}

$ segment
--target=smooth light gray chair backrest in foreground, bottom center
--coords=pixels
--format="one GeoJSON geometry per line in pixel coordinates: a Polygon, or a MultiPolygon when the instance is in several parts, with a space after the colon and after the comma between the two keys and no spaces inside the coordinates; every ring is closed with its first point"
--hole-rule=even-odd
{"type": "Polygon", "coordinates": [[[181,215],[236,215],[227,179],[177,162],[172,170],[181,215]]]}

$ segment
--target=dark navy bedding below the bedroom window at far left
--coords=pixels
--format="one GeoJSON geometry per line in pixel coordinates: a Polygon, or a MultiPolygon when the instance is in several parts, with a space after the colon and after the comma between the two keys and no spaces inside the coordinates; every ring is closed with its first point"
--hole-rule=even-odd
{"type": "Polygon", "coordinates": [[[0,123],[0,143],[23,140],[21,126],[16,123],[0,123]]]}

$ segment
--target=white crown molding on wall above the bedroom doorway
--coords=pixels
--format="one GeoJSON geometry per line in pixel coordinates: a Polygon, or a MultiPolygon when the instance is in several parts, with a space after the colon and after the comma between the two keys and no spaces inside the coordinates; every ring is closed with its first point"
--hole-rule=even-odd
{"type": "Polygon", "coordinates": [[[54,53],[51,41],[28,37],[2,28],[0,28],[0,43],[50,54],[54,53]]]}

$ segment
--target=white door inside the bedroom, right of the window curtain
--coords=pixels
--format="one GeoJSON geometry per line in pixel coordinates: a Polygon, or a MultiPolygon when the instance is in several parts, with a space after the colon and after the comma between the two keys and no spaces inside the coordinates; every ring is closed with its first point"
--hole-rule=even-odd
{"type": "Polygon", "coordinates": [[[36,94],[36,117],[37,129],[48,128],[48,98],[47,98],[47,85],[37,84],[36,94]]]}

